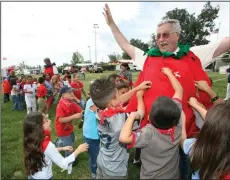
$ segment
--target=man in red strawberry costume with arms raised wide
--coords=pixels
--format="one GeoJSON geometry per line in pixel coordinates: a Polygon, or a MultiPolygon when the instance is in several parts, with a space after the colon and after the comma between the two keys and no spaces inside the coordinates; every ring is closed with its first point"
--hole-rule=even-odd
{"type": "MultiPolygon", "coordinates": [[[[134,60],[135,65],[141,69],[135,86],[146,80],[152,82],[152,88],[146,91],[144,95],[146,116],[142,120],[140,127],[142,128],[149,123],[148,114],[157,97],[172,97],[174,94],[169,80],[161,72],[163,67],[168,67],[172,69],[174,75],[183,87],[184,95],[182,105],[186,115],[186,131],[188,137],[193,137],[195,133],[198,132],[198,128],[195,124],[193,109],[187,103],[189,98],[196,97],[206,108],[212,106],[208,94],[200,92],[199,97],[197,96],[194,81],[205,80],[208,82],[209,86],[211,86],[209,77],[204,72],[203,67],[210,64],[212,59],[230,49],[230,38],[190,49],[188,45],[178,44],[181,33],[179,21],[168,19],[158,24],[156,33],[158,48],[152,48],[148,52],[143,52],[131,45],[120,32],[112,18],[107,4],[104,8],[104,16],[119,46],[134,60]]],[[[213,98],[212,101],[216,99],[218,99],[218,97],[213,98]]],[[[127,111],[136,111],[136,108],[137,100],[136,97],[133,96],[127,106],[127,111]]],[[[182,151],[180,154],[181,178],[187,179],[189,178],[188,160],[182,151]]]]}

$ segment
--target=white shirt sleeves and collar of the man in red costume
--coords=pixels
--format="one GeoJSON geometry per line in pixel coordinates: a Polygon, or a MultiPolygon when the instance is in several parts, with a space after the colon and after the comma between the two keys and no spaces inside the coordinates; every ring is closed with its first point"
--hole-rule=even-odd
{"type": "MultiPolygon", "coordinates": [[[[201,46],[194,46],[190,48],[190,51],[192,51],[200,59],[202,67],[206,68],[208,65],[210,65],[214,61],[213,55],[216,49],[220,46],[222,41],[223,39],[215,43],[209,43],[209,44],[201,45],[201,46]]],[[[174,53],[178,51],[179,49],[177,48],[177,50],[174,53]]],[[[140,68],[141,71],[143,71],[143,66],[144,66],[146,58],[147,58],[147,54],[144,55],[144,51],[135,47],[134,64],[138,68],[140,68]]]]}

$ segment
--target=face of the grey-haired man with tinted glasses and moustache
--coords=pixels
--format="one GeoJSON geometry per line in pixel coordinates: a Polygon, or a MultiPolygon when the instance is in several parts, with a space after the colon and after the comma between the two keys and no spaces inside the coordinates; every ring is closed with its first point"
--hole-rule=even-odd
{"type": "Polygon", "coordinates": [[[156,40],[161,52],[174,52],[177,48],[179,34],[174,32],[172,24],[162,24],[157,28],[156,40]]]}

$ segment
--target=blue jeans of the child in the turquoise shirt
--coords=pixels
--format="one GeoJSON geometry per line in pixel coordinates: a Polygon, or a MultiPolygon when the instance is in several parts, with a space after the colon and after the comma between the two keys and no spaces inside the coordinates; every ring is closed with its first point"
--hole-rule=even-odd
{"type": "Polygon", "coordinates": [[[84,142],[89,144],[89,166],[90,171],[93,174],[96,174],[97,171],[97,155],[99,153],[100,140],[93,140],[84,137],[84,142]]]}

